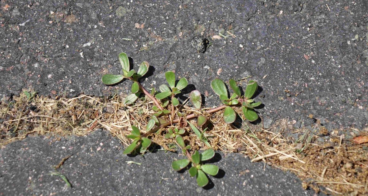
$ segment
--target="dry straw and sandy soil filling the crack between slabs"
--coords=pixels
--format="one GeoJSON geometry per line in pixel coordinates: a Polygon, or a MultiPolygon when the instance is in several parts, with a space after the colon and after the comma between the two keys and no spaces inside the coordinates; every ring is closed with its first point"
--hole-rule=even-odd
{"type": "MultiPolygon", "coordinates": [[[[81,95],[72,99],[35,96],[28,100],[24,94],[14,97],[9,103],[0,105],[0,146],[24,139],[28,135],[67,136],[86,135],[98,128],[109,131],[126,146],[131,141],[126,138],[135,125],[145,130],[152,101],[142,97],[132,106],[123,106],[123,97],[109,99],[81,95]],[[107,112],[106,112],[107,111],[107,112]]],[[[196,111],[183,106],[183,114],[196,111]]],[[[198,111],[200,112],[200,111],[198,111]]],[[[202,111],[203,113],[203,111],[202,111]]],[[[318,132],[326,132],[316,127],[316,132],[298,129],[303,136],[297,141],[284,138],[285,126],[274,126],[264,130],[260,125],[237,121],[236,126],[223,122],[221,112],[207,114],[209,129],[205,136],[215,150],[238,152],[252,161],[267,164],[294,172],[308,186],[332,195],[365,195],[368,185],[368,144],[354,145],[343,136],[333,136],[330,141],[318,144],[318,132]]],[[[169,120],[169,119],[167,119],[169,120]]],[[[195,124],[195,120],[191,120],[195,124]]],[[[206,145],[185,128],[184,139],[195,150],[205,149],[206,145]]],[[[152,134],[151,140],[165,150],[176,150],[173,139],[164,139],[167,128],[152,134]]]]}

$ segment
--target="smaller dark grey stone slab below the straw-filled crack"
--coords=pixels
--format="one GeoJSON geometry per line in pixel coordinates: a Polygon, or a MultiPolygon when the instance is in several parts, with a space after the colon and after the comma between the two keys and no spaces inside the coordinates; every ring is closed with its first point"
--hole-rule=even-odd
{"type": "Polygon", "coordinates": [[[149,153],[128,157],[120,141],[103,131],[86,137],[26,138],[0,149],[0,195],[314,195],[300,180],[241,154],[216,154],[220,172],[205,189],[198,188],[187,171],[171,168],[174,153],[149,153]],[[53,168],[71,183],[69,188],[53,168]],[[126,161],[141,163],[127,164],[126,161]]]}

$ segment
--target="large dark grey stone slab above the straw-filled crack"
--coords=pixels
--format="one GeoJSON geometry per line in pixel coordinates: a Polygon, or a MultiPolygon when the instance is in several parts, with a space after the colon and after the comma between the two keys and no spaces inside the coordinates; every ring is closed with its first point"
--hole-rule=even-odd
{"type": "Polygon", "coordinates": [[[367,10],[366,0],[1,1],[0,95],[22,88],[52,96],[128,93],[130,82],[100,81],[121,72],[117,55],[125,51],[134,65],[153,66],[146,88],[175,70],[194,85],[188,92],[207,91],[213,106],[212,79],[251,75],[263,89],[256,100],[265,104],[258,111],[266,124],[287,118],[308,126],[313,114],[330,129],[361,129],[368,122],[367,10]],[[213,39],[227,31],[236,38],[213,39]],[[191,44],[200,35],[211,41],[204,53],[191,44]]]}

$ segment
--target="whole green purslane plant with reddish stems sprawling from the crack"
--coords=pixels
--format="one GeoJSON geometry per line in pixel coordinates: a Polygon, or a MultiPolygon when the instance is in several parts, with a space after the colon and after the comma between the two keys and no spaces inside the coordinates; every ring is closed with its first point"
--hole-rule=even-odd
{"type": "MultiPolygon", "coordinates": [[[[164,138],[170,139],[175,138],[175,142],[181,148],[183,154],[187,157],[187,159],[173,161],[172,167],[174,170],[182,170],[184,168],[188,168],[189,174],[192,177],[196,177],[197,183],[199,186],[203,187],[208,184],[208,175],[217,175],[219,168],[216,165],[204,164],[203,161],[209,160],[215,155],[215,152],[211,148],[208,138],[204,136],[204,132],[208,129],[208,127],[203,128],[208,125],[208,118],[205,115],[201,115],[200,113],[191,113],[186,116],[183,116],[179,111],[175,111],[177,107],[178,110],[181,107],[179,100],[176,98],[176,95],[181,93],[181,90],[187,87],[188,81],[186,78],[181,78],[176,82],[175,73],[172,71],[167,71],[165,73],[165,78],[169,86],[166,84],[160,85],[160,92],[156,92],[155,88],[152,88],[151,93],[149,93],[142,85],[139,83],[139,78],[144,76],[149,70],[149,63],[147,61],[143,61],[138,68],[138,71],[130,70],[130,64],[127,54],[120,53],[119,61],[122,68],[122,75],[114,75],[114,74],[106,74],[102,76],[102,82],[106,85],[114,85],[123,81],[124,79],[128,79],[132,81],[131,86],[131,94],[125,97],[124,104],[129,105],[133,104],[138,97],[143,93],[149,99],[155,103],[155,106],[152,107],[152,110],[155,113],[151,116],[146,125],[146,131],[140,132],[136,126],[132,126],[131,135],[127,135],[127,138],[132,139],[132,143],[124,150],[124,154],[130,153],[140,153],[144,152],[151,145],[151,140],[149,136],[153,133],[156,133],[159,129],[165,128],[166,126],[176,126],[174,129],[168,129],[167,133],[164,135],[164,138]],[[161,101],[161,103],[159,102],[161,101]],[[170,107],[170,108],[167,108],[170,107]],[[167,108],[167,109],[166,109],[167,108]],[[164,115],[170,114],[169,121],[164,119],[164,115]],[[175,114],[177,114],[178,118],[175,118],[175,114]],[[202,129],[200,132],[199,129],[191,124],[188,120],[197,117],[197,127],[202,129]],[[184,126],[190,125],[191,130],[197,135],[198,139],[205,143],[210,149],[205,150],[202,153],[199,153],[197,150],[191,153],[191,146],[185,145],[184,139],[182,135],[185,135],[184,126]],[[190,165],[191,163],[191,165],[190,165]],[[190,166],[188,166],[190,165],[190,166]]],[[[247,87],[245,88],[244,94],[241,93],[239,86],[237,85],[234,79],[229,80],[229,86],[234,91],[231,96],[229,96],[229,92],[227,91],[225,83],[221,79],[213,79],[211,81],[211,88],[213,92],[217,96],[219,96],[222,105],[216,108],[212,108],[209,110],[205,110],[205,113],[215,113],[220,110],[223,111],[223,120],[231,124],[236,120],[237,113],[234,110],[234,107],[241,107],[241,111],[243,112],[243,116],[248,121],[255,121],[258,119],[258,114],[255,112],[255,108],[261,105],[261,102],[254,102],[252,97],[255,95],[255,92],[258,88],[257,82],[251,80],[248,82],[247,87]]],[[[197,110],[201,110],[202,107],[202,96],[198,90],[193,90],[189,93],[189,98],[192,106],[197,110]]],[[[202,109],[203,110],[203,109],[202,109]]],[[[167,118],[166,118],[167,119],[167,118]]],[[[157,133],[160,133],[157,132],[157,133]]]]}

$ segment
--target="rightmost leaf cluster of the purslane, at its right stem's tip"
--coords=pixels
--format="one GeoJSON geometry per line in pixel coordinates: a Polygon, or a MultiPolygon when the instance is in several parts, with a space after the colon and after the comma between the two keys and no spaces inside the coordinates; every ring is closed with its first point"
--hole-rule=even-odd
{"type": "Polygon", "coordinates": [[[249,81],[243,96],[235,80],[230,79],[229,85],[234,91],[231,97],[228,96],[226,85],[221,79],[216,78],[211,82],[213,92],[220,97],[220,100],[226,106],[223,113],[224,121],[230,124],[236,120],[236,112],[231,106],[238,105],[239,103],[241,103],[243,115],[248,121],[257,120],[258,114],[254,111],[254,108],[260,106],[261,102],[254,102],[251,99],[258,88],[257,82],[254,80],[249,81]]]}

